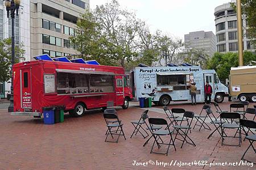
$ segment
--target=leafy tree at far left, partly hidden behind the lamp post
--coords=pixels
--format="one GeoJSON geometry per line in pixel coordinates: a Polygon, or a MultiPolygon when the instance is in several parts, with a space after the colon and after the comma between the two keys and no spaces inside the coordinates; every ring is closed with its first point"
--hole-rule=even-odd
{"type": "MultiPolygon", "coordinates": [[[[15,63],[24,60],[25,50],[23,44],[15,46],[15,63]]],[[[11,39],[0,41],[0,82],[6,82],[11,78],[11,39]]]]}

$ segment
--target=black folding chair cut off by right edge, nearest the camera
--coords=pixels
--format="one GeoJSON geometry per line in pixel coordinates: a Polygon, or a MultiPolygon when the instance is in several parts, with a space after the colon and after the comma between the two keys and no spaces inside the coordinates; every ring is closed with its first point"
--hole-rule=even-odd
{"type": "MultiPolygon", "coordinates": [[[[241,125],[241,127],[242,127],[243,129],[244,129],[244,128],[247,128],[247,129],[256,129],[256,122],[255,122],[255,121],[251,121],[251,120],[241,119],[241,120],[240,120],[240,125],[241,125]]],[[[243,153],[243,156],[242,156],[241,160],[246,160],[246,159],[244,159],[244,157],[245,157],[245,154],[246,154],[246,152],[249,150],[250,147],[253,148],[253,150],[254,150],[254,152],[255,152],[255,154],[256,154],[256,150],[255,150],[255,148],[254,148],[254,146],[253,146],[253,142],[256,141],[256,135],[255,135],[255,134],[253,134],[253,135],[248,135],[248,134],[246,133],[246,131],[245,131],[245,134],[246,134],[245,138],[249,140],[250,145],[249,145],[249,147],[246,149],[245,153],[243,153]]],[[[249,160],[247,160],[247,161],[250,162],[249,160]]],[[[254,162],[252,162],[252,163],[254,163],[254,162]]],[[[254,164],[256,164],[256,163],[254,163],[254,164]]]]}

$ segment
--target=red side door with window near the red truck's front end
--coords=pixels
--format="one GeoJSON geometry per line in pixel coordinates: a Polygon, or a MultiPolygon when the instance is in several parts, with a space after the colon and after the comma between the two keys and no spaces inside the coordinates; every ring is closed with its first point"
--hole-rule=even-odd
{"type": "Polygon", "coordinates": [[[123,105],[125,99],[125,87],[123,86],[123,76],[115,76],[115,103],[116,105],[123,105]]]}

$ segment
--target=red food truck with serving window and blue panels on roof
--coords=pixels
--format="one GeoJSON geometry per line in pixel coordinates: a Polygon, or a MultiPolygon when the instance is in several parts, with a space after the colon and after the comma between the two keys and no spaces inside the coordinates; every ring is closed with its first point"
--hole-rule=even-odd
{"type": "Polygon", "coordinates": [[[127,109],[133,98],[122,67],[37,60],[13,67],[14,112],[40,117],[44,107],[64,106],[81,117],[86,110],[127,109]]]}

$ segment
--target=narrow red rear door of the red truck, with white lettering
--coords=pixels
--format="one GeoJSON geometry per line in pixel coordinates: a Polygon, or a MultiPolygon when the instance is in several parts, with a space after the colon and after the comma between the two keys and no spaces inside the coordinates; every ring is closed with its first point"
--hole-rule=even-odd
{"type": "Polygon", "coordinates": [[[31,69],[20,70],[20,101],[23,109],[31,109],[31,69]]]}

